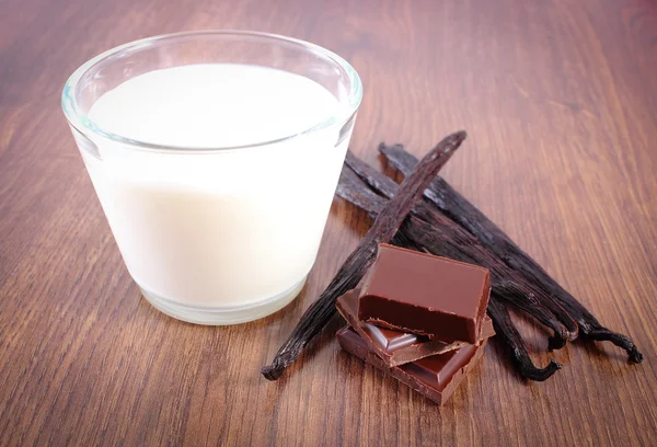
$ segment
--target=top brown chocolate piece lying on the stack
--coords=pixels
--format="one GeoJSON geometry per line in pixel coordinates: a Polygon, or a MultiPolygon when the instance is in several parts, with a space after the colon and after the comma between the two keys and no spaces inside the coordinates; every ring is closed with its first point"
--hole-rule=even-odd
{"type": "Polygon", "coordinates": [[[382,243],[360,291],[358,318],[475,344],[489,296],[487,268],[382,243]]]}

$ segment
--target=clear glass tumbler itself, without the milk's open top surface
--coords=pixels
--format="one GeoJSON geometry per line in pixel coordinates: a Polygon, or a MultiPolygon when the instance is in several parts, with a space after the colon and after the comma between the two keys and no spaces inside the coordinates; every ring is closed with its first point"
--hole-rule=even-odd
{"type": "Polygon", "coordinates": [[[146,38],[103,53],[70,77],[61,103],[143,297],[180,320],[234,324],[277,311],[303,287],[361,95],[354,68],[322,47],[265,33],[211,31],[146,38]],[[187,136],[136,140],[89,117],[103,94],[135,77],[201,64],[299,74],[326,89],[339,106],[274,140],[249,141],[247,129],[264,123],[244,123],[246,142],[224,147],[185,146],[187,136]]]}

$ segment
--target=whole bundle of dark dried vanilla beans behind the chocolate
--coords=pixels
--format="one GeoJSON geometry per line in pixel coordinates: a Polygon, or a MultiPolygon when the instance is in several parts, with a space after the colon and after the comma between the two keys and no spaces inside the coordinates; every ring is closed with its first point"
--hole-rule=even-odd
{"type": "Polygon", "coordinates": [[[299,357],[335,313],[337,297],[358,285],[376,256],[378,244],[388,241],[488,268],[492,283],[488,314],[500,340],[510,347],[519,373],[527,379],[545,380],[561,365],[554,359],[543,368],[532,363],[507,307],[551,330],[548,343],[551,349],[563,347],[581,333],[590,340],[611,341],[627,351],[631,362],[643,360],[630,337],[602,326],[506,233],[436,175],[464,138],[463,131],[448,136],[419,163],[399,145],[381,145],[383,156],[406,176],[401,185],[347,153],[337,195],[366,210],[374,221],[328,287],[301,317],[272,364],[262,369],[267,379],[279,378],[299,357]]]}

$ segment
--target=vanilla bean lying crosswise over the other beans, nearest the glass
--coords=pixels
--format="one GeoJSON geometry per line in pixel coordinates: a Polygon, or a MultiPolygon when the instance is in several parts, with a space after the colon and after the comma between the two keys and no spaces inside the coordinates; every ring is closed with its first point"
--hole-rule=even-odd
{"type": "Polygon", "coordinates": [[[265,378],[278,379],[285,369],[299,357],[306,345],[326,325],[335,313],[335,300],[358,285],[373,262],[379,243],[388,242],[394,237],[400,225],[413,208],[413,204],[422,197],[424,190],[464,139],[464,131],[451,134],[442,139],[422,159],[415,171],[404,180],[396,197],[381,209],[358,248],[347,257],[320,298],[303,313],[291,335],[278,349],[272,364],[262,368],[265,378]]]}

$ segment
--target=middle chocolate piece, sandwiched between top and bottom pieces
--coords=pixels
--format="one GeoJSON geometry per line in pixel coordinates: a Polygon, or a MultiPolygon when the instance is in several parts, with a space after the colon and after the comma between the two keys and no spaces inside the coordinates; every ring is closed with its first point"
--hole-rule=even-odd
{"type": "MultiPolygon", "coordinates": [[[[445,343],[425,335],[378,328],[358,320],[358,290],[349,290],[336,301],[337,311],[387,366],[397,366],[463,347],[466,343],[445,343]]],[[[480,341],[495,335],[493,321],[484,316],[480,341]]]]}

